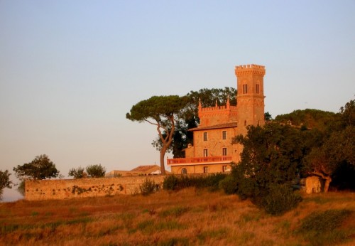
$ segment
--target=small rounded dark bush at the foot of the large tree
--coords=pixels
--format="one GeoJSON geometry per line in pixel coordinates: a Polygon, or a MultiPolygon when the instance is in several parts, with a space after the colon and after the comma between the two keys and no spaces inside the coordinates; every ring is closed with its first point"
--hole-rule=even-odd
{"type": "Polygon", "coordinates": [[[271,186],[268,193],[262,197],[261,206],[266,210],[266,213],[282,215],[295,208],[301,200],[300,194],[295,193],[290,186],[277,184],[271,186]]]}

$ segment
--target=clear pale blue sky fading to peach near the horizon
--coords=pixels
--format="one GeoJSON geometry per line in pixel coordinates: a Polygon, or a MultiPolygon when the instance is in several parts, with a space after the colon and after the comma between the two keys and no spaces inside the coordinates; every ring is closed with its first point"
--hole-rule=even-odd
{"type": "Polygon", "coordinates": [[[236,87],[250,63],[266,66],[273,117],[339,112],[355,95],[355,1],[0,0],[0,169],[40,154],[65,176],[158,164],[131,106],[236,87]]]}

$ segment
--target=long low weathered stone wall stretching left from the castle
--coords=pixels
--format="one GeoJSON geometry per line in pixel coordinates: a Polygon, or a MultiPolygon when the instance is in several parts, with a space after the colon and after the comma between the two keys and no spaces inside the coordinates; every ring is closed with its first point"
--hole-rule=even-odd
{"type": "Polygon", "coordinates": [[[140,193],[139,186],[150,178],[163,188],[164,176],[80,178],[26,181],[26,200],[53,200],[140,193]]]}

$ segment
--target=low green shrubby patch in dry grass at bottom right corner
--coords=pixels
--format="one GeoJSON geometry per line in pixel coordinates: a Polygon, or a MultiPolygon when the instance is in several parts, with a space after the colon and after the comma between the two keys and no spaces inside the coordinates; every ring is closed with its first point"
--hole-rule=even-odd
{"type": "Polygon", "coordinates": [[[312,213],[302,220],[297,233],[312,245],[335,245],[351,239],[354,229],[342,230],[340,226],[351,215],[351,210],[325,210],[312,213]]]}

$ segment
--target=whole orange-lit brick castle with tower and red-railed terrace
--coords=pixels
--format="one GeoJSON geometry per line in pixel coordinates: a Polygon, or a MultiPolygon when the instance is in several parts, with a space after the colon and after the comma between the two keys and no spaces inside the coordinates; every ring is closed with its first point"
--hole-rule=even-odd
{"type": "Polygon", "coordinates": [[[239,162],[241,144],[232,139],[246,134],[248,125],[263,126],[264,90],[262,65],[239,65],[235,67],[237,105],[198,107],[200,125],[194,129],[193,144],[185,149],[185,158],[168,159],[168,166],[175,174],[219,173],[230,171],[231,162],[239,162]]]}

